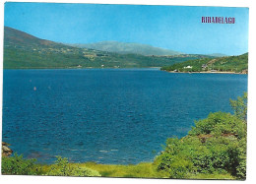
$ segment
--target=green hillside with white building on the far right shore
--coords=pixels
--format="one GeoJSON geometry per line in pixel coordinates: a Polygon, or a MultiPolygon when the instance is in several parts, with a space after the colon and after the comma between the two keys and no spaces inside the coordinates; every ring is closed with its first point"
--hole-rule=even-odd
{"type": "Polygon", "coordinates": [[[203,58],[162,67],[172,72],[233,72],[248,73],[248,53],[239,56],[203,58]]]}

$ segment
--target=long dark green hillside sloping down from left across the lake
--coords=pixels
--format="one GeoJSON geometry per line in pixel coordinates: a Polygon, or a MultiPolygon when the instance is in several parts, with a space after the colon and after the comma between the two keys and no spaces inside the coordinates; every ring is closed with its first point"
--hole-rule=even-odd
{"type": "Polygon", "coordinates": [[[200,54],[159,56],[151,53],[150,56],[145,56],[101,51],[40,39],[24,31],[4,28],[4,69],[149,68],[208,57],[213,58],[213,56],[200,54]]]}

